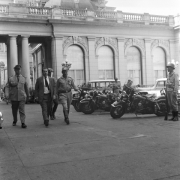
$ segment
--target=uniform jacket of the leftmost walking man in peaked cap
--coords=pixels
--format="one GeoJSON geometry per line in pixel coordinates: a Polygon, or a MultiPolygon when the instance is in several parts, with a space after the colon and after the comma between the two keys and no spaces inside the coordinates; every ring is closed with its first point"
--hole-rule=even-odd
{"type": "Polygon", "coordinates": [[[9,99],[11,101],[25,101],[28,95],[26,78],[16,75],[9,78],[9,99]]]}

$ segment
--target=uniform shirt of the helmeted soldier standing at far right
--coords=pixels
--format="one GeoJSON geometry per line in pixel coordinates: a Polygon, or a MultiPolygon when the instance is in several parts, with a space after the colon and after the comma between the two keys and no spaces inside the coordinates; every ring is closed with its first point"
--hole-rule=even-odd
{"type": "Polygon", "coordinates": [[[179,89],[179,76],[175,72],[169,73],[167,77],[167,91],[178,92],[179,89]]]}

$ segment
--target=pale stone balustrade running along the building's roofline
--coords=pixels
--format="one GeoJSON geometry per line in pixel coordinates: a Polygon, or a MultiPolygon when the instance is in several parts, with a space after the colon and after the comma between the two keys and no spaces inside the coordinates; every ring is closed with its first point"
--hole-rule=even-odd
{"type": "MultiPolygon", "coordinates": [[[[48,7],[40,7],[40,6],[29,6],[30,4],[27,4],[26,7],[22,7],[22,8],[27,8],[27,12],[28,14],[31,15],[38,15],[38,17],[40,16],[50,16],[52,11],[52,8],[48,8],[48,7]]],[[[11,14],[10,9],[9,9],[10,5],[0,5],[0,14],[6,14],[9,13],[11,14]]],[[[13,6],[13,8],[15,8],[13,6]]],[[[19,7],[18,7],[19,8],[19,7]]],[[[56,7],[57,8],[57,7],[56,7]]],[[[11,8],[12,9],[12,8],[11,8]]],[[[62,12],[62,16],[64,18],[70,17],[70,19],[72,19],[73,17],[88,17],[89,16],[89,12],[88,10],[78,10],[78,9],[61,9],[61,7],[59,7],[59,10],[62,12]]],[[[24,11],[22,11],[24,12],[24,11]]],[[[167,24],[169,23],[169,25],[173,25],[173,17],[169,17],[169,16],[159,16],[159,15],[149,15],[148,13],[145,14],[134,14],[134,13],[124,13],[124,12],[114,12],[114,11],[95,11],[93,13],[90,13],[90,16],[94,19],[113,19],[113,20],[117,20],[117,22],[130,22],[130,21],[134,21],[134,22],[142,22],[145,24],[150,24],[150,23],[157,23],[157,24],[167,24]]],[[[54,16],[52,16],[54,17],[54,16]]],[[[62,18],[63,18],[62,17],[62,18]]]]}

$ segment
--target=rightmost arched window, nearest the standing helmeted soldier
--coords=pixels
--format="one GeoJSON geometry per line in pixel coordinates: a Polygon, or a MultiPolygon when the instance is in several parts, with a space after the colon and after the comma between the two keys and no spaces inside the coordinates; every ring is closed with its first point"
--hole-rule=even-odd
{"type": "Polygon", "coordinates": [[[165,69],[166,55],[162,48],[156,47],[153,50],[154,80],[166,77],[165,69]]]}

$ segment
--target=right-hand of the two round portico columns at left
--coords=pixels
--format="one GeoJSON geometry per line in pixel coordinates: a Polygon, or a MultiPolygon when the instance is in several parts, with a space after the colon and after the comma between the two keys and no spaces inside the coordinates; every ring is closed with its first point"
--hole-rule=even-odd
{"type": "Polygon", "coordinates": [[[29,66],[29,44],[28,44],[28,38],[29,36],[23,36],[21,39],[22,42],[22,70],[21,73],[23,76],[26,77],[26,81],[28,82],[28,85],[30,86],[30,66],[29,66]]]}

